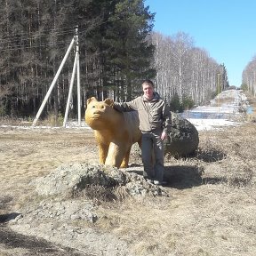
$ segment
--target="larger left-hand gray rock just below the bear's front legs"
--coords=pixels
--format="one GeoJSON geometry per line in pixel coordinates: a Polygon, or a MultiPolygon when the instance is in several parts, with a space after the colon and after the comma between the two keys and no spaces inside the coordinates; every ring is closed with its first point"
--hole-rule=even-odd
{"type": "Polygon", "coordinates": [[[115,167],[100,164],[63,164],[47,176],[30,183],[36,186],[36,192],[42,196],[70,196],[86,185],[99,185],[113,188],[123,184],[125,177],[115,167]]]}

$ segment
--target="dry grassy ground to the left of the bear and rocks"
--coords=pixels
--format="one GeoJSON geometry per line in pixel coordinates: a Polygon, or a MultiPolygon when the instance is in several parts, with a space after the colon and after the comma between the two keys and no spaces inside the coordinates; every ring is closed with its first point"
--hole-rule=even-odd
{"type": "MultiPolygon", "coordinates": [[[[63,163],[90,163],[97,155],[92,132],[0,128],[0,255],[86,255],[38,237],[12,232],[5,222],[28,204],[28,182],[63,163]]],[[[89,255],[89,254],[88,254],[89,255]]]]}

